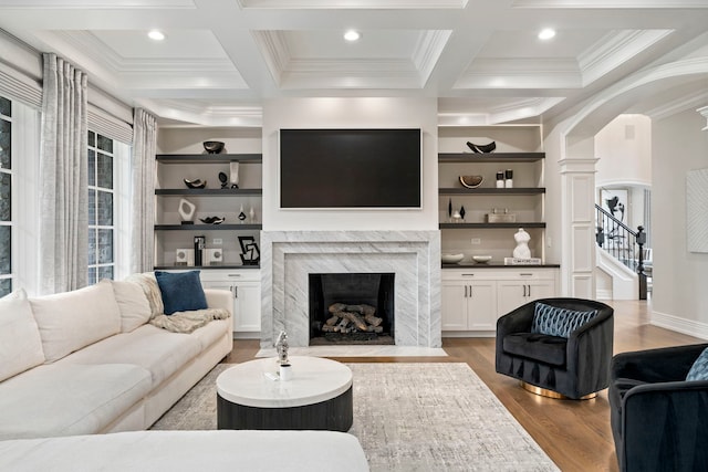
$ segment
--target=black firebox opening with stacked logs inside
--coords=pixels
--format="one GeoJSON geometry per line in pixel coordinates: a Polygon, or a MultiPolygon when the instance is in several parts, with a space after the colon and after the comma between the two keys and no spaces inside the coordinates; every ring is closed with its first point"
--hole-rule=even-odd
{"type": "Polygon", "coordinates": [[[394,273],[309,274],[310,345],[393,345],[394,273]]]}

